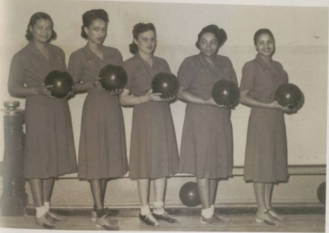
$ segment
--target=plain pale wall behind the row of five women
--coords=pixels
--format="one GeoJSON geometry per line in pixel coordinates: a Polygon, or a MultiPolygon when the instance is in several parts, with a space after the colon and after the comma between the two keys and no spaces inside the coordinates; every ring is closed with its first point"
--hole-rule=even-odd
{"type": "MultiPolygon", "coordinates": [[[[27,44],[25,29],[35,12],[47,12],[55,23],[58,39],[53,44],[70,54],[83,47],[80,36],[82,14],[103,8],[110,15],[105,45],[117,47],[126,60],[132,55],[132,27],[139,22],[154,23],[158,33],[156,56],[165,58],[177,73],[187,56],[198,53],[197,34],[202,27],[217,24],[228,34],[219,53],[228,56],[238,80],[245,62],[254,59],[253,36],[259,28],[269,28],[276,38],[276,54],[305,95],[303,108],[286,115],[289,164],[326,163],[326,111],[328,75],[328,8],[266,5],[210,5],[196,3],[147,3],[112,1],[1,0],[0,1],[0,101],[12,100],[7,92],[10,60],[27,44]]],[[[70,100],[75,145],[78,148],[82,105],[85,95],[70,100]]],[[[24,100],[21,107],[24,108],[24,100]]],[[[185,104],[171,105],[178,146],[182,135],[185,104]]],[[[0,107],[2,108],[2,107],[0,107]]],[[[132,109],[124,108],[127,149],[130,147],[132,109]]],[[[243,165],[249,108],[239,105],[232,111],[234,165],[243,165]]],[[[73,175],[74,176],[74,175],[73,175]]]]}

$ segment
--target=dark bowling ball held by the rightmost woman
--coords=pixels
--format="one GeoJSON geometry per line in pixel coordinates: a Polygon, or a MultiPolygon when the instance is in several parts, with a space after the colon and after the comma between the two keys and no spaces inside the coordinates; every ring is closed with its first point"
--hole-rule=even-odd
{"type": "Polygon", "coordinates": [[[276,90],[275,98],[280,106],[293,110],[302,102],[302,91],[295,84],[282,84],[276,90]]]}

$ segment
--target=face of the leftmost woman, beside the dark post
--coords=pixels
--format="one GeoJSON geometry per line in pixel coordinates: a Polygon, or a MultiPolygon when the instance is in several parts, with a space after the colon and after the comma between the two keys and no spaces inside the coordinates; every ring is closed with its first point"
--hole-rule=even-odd
{"type": "Polygon", "coordinates": [[[53,27],[49,19],[37,19],[33,26],[29,26],[29,31],[32,32],[34,42],[44,44],[50,40],[53,27]]]}

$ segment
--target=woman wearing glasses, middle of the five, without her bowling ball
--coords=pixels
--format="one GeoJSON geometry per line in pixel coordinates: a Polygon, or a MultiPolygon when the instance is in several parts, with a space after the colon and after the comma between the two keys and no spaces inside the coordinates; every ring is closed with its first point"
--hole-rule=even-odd
{"type": "Polygon", "coordinates": [[[130,143],[130,177],[137,179],[141,200],[139,218],[147,225],[159,225],[157,220],[178,223],[177,219],[164,211],[166,177],[178,170],[178,149],[175,140],[173,119],[169,99],[160,99],[153,93],[151,81],[161,71],[170,72],[169,64],[154,56],[156,28],[152,23],[138,23],[132,31],[133,43],[130,52],[134,57],[123,62],[128,82],[120,102],[134,106],[132,140],[130,143]],[[132,95],[130,95],[132,94],[132,95]],[[149,210],[149,181],[154,182],[154,211],[149,210]]]}

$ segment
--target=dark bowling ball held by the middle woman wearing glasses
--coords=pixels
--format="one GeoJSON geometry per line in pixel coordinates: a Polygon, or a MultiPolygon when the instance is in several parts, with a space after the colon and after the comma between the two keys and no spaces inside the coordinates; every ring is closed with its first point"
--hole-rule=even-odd
{"type": "Polygon", "coordinates": [[[180,83],[173,73],[160,72],[152,79],[151,87],[153,93],[161,93],[161,99],[173,97],[178,93],[180,83]]]}

